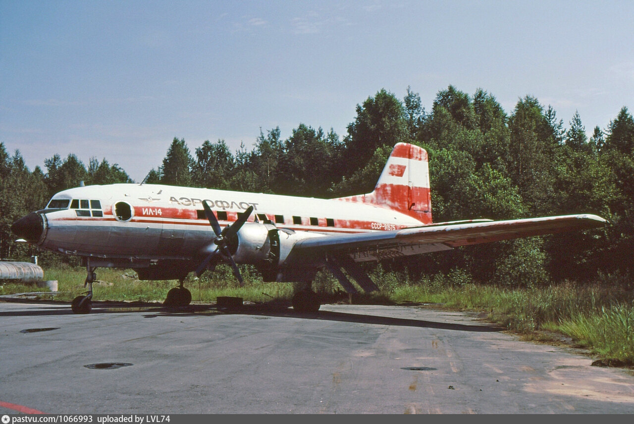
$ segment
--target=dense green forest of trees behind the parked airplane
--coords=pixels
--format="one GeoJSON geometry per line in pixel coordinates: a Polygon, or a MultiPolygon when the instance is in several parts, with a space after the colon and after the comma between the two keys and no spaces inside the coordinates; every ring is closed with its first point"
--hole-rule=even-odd
{"type": "MultiPolygon", "coordinates": [[[[411,278],[459,271],[483,284],[539,286],[619,275],[634,257],[634,119],[623,106],[607,128],[586,132],[576,113],[568,124],[533,96],[507,115],[493,94],[439,91],[429,110],[408,87],[403,100],[381,89],[356,106],[340,136],[299,124],[287,139],[279,127],[259,130],[251,150],[224,140],[193,152],[174,138],[146,183],[334,198],[368,193],[398,142],[429,153],[434,222],[590,213],[604,228],[458,248],[388,260],[385,269],[411,278]]],[[[106,158],[84,164],[70,153],[29,170],[20,151],[0,143],[0,257],[25,260],[11,224],[42,209],[51,196],[88,184],[132,183],[106,158]]],[[[152,164],[150,164],[151,166],[152,164]]],[[[137,181],[140,183],[140,181],[137,181]]],[[[72,260],[42,254],[42,260],[72,260]]]]}

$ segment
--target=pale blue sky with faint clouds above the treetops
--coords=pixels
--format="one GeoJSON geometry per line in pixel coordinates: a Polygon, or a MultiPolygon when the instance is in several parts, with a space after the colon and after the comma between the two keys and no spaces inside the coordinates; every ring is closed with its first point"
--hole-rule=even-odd
{"type": "Polygon", "coordinates": [[[174,137],[343,138],[380,89],[430,110],[450,84],[578,110],[590,135],[634,112],[633,22],[632,1],[0,0],[0,141],[31,170],[75,153],[141,181],[174,137]]]}

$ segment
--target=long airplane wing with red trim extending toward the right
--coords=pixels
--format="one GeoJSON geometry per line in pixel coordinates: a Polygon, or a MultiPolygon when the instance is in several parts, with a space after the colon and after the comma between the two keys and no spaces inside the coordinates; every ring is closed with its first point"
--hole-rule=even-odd
{"type": "Polygon", "coordinates": [[[602,226],[597,215],[563,215],[510,221],[467,222],[411,227],[394,231],[327,235],[299,240],[285,266],[306,266],[328,256],[349,257],[355,262],[417,255],[489,241],[539,236],[602,226]]]}

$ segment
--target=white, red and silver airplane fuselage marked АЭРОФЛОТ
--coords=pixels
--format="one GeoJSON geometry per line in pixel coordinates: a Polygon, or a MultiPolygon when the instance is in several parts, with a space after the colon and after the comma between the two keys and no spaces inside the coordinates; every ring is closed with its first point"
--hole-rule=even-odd
{"type": "MultiPolygon", "coordinates": [[[[295,241],[329,233],[423,224],[396,210],[342,200],[159,184],[111,184],[57,193],[46,209],[39,211],[41,231],[31,234],[32,240],[28,241],[55,252],[104,259],[193,259],[215,237],[202,202],[207,202],[223,227],[252,206],[254,211],[247,222],[283,229],[295,241]]],[[[249,228],[249,224],[245,226],[249,228]]]]}

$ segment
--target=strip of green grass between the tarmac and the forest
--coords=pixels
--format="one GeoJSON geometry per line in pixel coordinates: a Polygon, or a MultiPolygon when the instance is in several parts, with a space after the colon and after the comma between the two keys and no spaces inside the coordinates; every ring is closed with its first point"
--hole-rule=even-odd
{"type": "MultiPolygon", "coordinates": [[[[238,286],[229,267],[216,273],[186,279],[193,302],[209,303],[219,296],[242,297],[250,302],[289,301],[296,287],[289,283],[264,283],[259,274],[243,267],[245,283],[238,286]]],[[[441,304],[455,310],[486,312],[488,319],[507,330],[534,340],[560,333],[573,338],[608,363],[634,365],[634,290],[629,276],[597,277],[591,285],[565,282],[558,285],[512,288],[476,285],[461,271],[412,280],[406,274],[375,269],[371,277],[380,292],[355,295],[355,303],[398,304],[418,302],[441,304]],[[615,362],[616,361],[616,362],[615,362]]],[[[44,279],[58,280],[57,300],[72,300],[85,292],[86,274],[80,267],[47,269],[44,279]]],[[[93,285],[100,300],[162,302],[178,281],[139,281],[132,270],[98,269],[93,285]]],[[[320,273],[313,283],[325,302],[347,300],[330,274],[320,273]]],[[[37,291],[46,289],[38,288],[37,291]]],[[[0,295],[34,291],[32,286],[5,284],[0,295]]]]}

